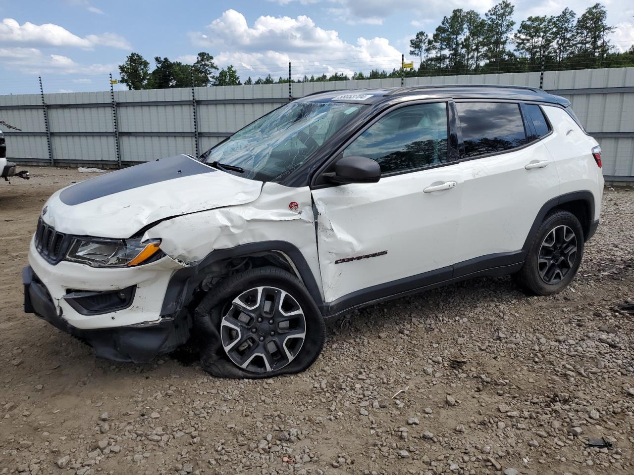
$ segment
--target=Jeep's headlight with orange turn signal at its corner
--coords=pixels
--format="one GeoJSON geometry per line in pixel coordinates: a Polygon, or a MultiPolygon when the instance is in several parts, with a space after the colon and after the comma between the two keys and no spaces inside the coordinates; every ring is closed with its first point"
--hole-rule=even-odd
{"type": "Polygon", "coordinates": [[[92,267],[131,267],[157,257],[160,239],[75,238],[66,253],[66,260],[92,267]]]}

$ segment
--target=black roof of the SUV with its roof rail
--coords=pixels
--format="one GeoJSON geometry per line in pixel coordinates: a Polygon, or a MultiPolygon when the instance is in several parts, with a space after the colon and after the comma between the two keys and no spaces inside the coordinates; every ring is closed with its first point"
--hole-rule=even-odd
{"type": "Polygon", "coordinates": [[[354,104],[378,104],[394,98],[425,96],[429,99],[510,99],[514,101],[537,101],[567,107],[566,98],[548,94],[538,87],[498,84],[429,84],[411,87],[385,87],[368,89],[344,89],[314,92],[299,101],[344,102],[354,104]],[[356,96],[356,97],[355,97],[356,96]]]}

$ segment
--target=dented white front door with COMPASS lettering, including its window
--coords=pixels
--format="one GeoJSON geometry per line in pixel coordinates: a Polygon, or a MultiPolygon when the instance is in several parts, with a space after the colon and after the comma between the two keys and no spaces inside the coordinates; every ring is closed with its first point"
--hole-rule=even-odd
{"type": "Polygon", "coordinates": [[[340,152],[376,160],[380,181],[314,187],[333,313],[451,278],[462,177],[448,130],[445,102],[389,110],[340,152]]]}

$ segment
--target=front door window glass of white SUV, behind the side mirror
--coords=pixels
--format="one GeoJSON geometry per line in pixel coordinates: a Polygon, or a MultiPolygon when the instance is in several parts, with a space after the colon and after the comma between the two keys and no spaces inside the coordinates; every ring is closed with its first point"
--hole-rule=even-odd
{"type": "Polygon", "coordinates": [[[344,156],[372,158],[382,173],[446,162],[446,103],[408,106],[385,115],[357,137],[344,156]]]}

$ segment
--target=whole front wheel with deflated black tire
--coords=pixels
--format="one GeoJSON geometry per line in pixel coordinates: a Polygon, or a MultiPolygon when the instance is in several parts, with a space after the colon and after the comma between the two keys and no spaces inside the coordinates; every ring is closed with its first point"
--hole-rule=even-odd
{"type": "Polygon", "coordinates": [[[261,378],[304,371],[318,357],[325,324],[297,277],[262,267],[228,277],[195,311],[201,364],[212,376],[261,378]]]}

